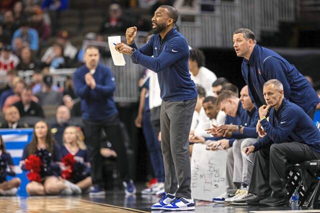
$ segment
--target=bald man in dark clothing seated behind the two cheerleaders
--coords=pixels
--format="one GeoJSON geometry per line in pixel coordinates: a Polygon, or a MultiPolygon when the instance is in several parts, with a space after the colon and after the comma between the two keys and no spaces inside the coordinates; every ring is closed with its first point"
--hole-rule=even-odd
{"type": "Polygon", "coordinates": [[[68,126],[70,126],[70,110],[64,105],[60,105],[56,109],[55,123],[51,124],[51,133],[58,143],[58,145],[63,145],[62,135],[68,126]]]}

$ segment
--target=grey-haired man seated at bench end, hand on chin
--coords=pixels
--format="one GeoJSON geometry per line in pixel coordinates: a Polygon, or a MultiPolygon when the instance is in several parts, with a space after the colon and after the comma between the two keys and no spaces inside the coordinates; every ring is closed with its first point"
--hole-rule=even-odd
{"type": "Polygon", "coordinates": [[[289,198],[285,192],[285,168],[288,164],[320,159],[320,132],[302,108],[284,98],[280,81],[265,82],[263,96],[267,105],[259,108],[257,124],[262,138],[242,150],[246,155],[256,152],[248,190],[256,196],[246,203],[286,206],[289,198]]]}

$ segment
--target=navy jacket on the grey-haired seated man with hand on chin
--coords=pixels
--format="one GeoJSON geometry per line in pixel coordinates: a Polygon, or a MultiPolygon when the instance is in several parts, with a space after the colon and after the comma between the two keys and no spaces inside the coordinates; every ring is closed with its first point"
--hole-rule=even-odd
{"type": "Polygon", "coordinates": [[[299,107],[287,99],[283,99],[278,109],[270,109],[269,121],[260,121],[266,136],[254,143],[254,152],[269,143],[299,142],[320,152],[320,132],[311,118],[299,107]]]}

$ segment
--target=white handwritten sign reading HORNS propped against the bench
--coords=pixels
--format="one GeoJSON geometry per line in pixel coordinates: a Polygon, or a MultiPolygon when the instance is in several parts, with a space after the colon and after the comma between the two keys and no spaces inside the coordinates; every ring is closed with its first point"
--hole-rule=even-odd
{"type": "Polygon", "coordinates": [[[193,145],[191,195],[193,199],[212,201],[226,190],[226,151],[208,151],[205,147],[203,144],[193,145]]]}

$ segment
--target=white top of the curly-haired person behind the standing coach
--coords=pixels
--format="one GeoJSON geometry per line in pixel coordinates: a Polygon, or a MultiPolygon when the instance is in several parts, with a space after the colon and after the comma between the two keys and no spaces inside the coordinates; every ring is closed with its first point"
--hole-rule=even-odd
{"type": "Polygon", "coordinates": [[[196,76],[194,76],[191,72],[190,74],[194,83],[204,88],[206,93],[205,96],[213,96],[212,83],[216,80],[216,76],[213,72],[204,66],[201,66],[196,76]]]}

